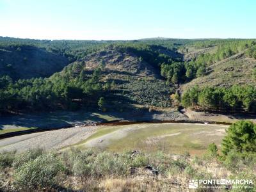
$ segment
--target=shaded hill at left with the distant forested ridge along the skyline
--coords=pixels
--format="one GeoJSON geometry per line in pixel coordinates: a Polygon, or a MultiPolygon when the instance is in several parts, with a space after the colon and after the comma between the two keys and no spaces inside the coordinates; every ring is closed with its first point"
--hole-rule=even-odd
{"type": "Polygon", "coordinates": [[[185,40],[134,40],[134,41],[94,41],[94,40],[31,40],[0,36],[0,76],[12,79],[49,77],[92,52],[109,45],[131,44],[164,45],[177,47],[185,40]]]}

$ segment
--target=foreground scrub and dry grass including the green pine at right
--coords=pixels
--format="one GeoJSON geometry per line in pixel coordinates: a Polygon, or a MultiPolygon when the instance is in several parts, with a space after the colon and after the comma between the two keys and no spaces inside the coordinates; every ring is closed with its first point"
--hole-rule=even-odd
{"type": "Polygon", "coordinates": [[[221,148],[211,143],[202,156],[174,156],[163,152],[99,150],[45,152],[28,150],[0,154],[1,191],[168,191],[188,189],[191,179],[249,179],[255,191],[255,124],[237,122],[227,129],[221,148]],[[250,134],[250,136],[249,136],[250,134]],[[243,140],[243,142],[240,142],[243,140]],[[239,143],[244,143],[239,145],[239,143]],[[239,149],[239,150],[237,150],[239,149]]]}

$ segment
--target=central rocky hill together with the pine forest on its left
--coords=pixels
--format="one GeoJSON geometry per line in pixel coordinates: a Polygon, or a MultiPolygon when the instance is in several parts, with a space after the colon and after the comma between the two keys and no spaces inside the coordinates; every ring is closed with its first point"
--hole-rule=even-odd
{"type": "Polygon", "coordinates": [[[3,76],[1,110],[123,111],[131,104],[168,107],[175,86],[166,84],[161,65],[179,61],[181,54],[161,45],[110,44],[47,79],[15,81],[3,76]]]}

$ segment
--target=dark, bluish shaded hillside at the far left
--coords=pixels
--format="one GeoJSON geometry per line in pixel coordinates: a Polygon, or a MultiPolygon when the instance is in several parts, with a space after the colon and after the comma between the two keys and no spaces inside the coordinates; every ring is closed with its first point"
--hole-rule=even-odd
{"type": "Polygon", "coordinates": [[[0,76],[13,79],[49,77],[68,64],[65,56],[29,45],[0,49],[0,76]]]}

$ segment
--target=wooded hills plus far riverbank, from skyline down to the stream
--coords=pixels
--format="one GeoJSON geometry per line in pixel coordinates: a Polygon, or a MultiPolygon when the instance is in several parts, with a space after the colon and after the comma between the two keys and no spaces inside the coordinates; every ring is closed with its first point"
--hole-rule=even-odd
{"type": "Polygon", "coordinates": [[[90,122],[256,119],[253,40],[0,38],[0,48],[2,138],[90,122]]]}

